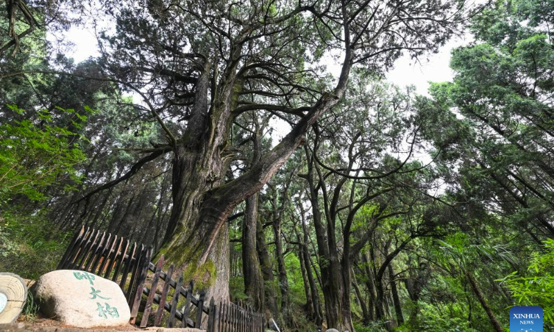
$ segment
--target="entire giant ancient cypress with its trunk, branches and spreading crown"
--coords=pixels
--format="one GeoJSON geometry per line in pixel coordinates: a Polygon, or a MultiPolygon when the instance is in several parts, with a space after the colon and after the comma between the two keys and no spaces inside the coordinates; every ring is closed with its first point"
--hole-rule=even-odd
{"type": "MultiPolygon", "coordinates": [[[[434,51],[467,15],[464,1],[102,1],[105,75],[141,98],[163,137],[125,181],[171,153],[172,210],[160,253],[216,299],[229,294],[226,219],[285,163],[343,97],[353,67],[379,75],[404,51],[434,51]],[[336,57],[340,70],[322,66],[336,57]],[[240,150],[233,122],[269,111],[292,129],[248,172],[226,176],[240,150]]],[[[94,78],[94,77],[87,77],[94,78]]]]}

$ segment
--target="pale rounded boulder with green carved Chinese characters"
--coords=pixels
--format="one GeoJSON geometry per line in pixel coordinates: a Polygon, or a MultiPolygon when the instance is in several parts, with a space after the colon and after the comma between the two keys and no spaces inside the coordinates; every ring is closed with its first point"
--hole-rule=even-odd
{"type": "Polygon", "coordinates": [[[131,318],[118,284],[84,271],[46,273],[31,291],[44,315],[71,326],[118,326],[131,318]]]}

